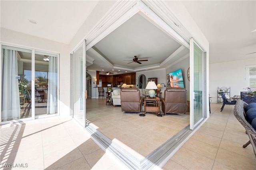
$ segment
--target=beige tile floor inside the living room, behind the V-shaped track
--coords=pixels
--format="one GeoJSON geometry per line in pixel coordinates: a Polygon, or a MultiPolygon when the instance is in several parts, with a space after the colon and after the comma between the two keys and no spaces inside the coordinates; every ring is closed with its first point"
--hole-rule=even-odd
{"type": "Polygon", "coordinates": [[[88,99],[86,119],[138,160],[156,150],[190,121],[189,112],[163,117],[146,113],[145,117],[140,117],[139,113],[124,113],[120,106],[113,107],[105,102],[103,99],[88,99]]]}

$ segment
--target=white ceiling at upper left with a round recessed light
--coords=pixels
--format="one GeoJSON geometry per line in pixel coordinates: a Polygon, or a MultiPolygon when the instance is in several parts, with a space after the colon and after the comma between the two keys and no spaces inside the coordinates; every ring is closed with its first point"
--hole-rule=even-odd
{"type": "Polygon", "coordinates": [[[97,0],[1,0],[1,27],[69,44],[97,3],[97,0]]]}

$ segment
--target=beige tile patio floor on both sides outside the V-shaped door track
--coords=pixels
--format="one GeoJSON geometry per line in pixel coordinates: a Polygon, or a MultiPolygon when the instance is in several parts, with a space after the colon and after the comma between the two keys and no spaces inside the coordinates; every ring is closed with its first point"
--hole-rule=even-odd
{"type": "MultiPolygon", "coordinates": [[[[211,104],[210,118],[162,169],[255,169],[251,145],[242,148],[248,136],[233,115],[234,106],[222,112],[220,107],[211,104]]],[[[128,169],[69,117],[2,125],[0,137],[1,169],[128,169]]]]}

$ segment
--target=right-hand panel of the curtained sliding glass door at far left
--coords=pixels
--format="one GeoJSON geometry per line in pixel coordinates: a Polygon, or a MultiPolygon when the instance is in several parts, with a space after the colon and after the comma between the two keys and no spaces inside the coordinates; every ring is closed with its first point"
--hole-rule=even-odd
{"type": "Polygon", "coordinates": [[[58,57],[35,52],[35,116],[58,112],[58,57]]]}

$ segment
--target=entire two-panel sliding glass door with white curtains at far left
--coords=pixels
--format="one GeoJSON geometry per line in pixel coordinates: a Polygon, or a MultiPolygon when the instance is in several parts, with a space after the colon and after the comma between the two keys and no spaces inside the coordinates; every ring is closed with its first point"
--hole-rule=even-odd
{"type": "Polygon", "coordinates": [[[2,45],[1,122],[58,113],[58,55],[2,45]]]}

